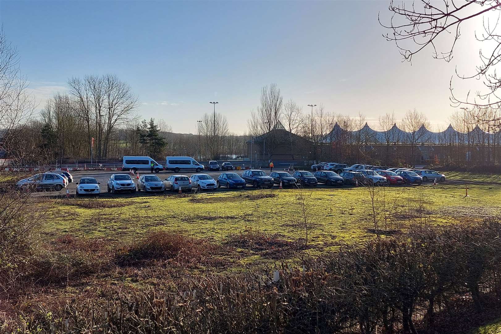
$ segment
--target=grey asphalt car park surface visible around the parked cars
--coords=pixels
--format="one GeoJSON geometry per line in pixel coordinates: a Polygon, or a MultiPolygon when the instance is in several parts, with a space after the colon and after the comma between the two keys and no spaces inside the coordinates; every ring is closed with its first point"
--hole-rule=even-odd
{"type": "MultiPolygon", "coordinates": [[[[238,174],[239,176],[241,176],[243,174],[244,170],[240,170],[240,171],[233,171],[233,173],[236,173],[238,174]]],[[[270,175],[270,171],[269,170],[264,170],[264,172],[267,174],[267,175],[270,175]]],[[[280,171],[277,171],[277,172],[280,172],[280,171]]],[[[110,176],[112,174],[128,174],[128,172],[120,172],[120,171],[73,171],[73,172],[70,172],[73,176],[73,180],[74,182],[73,183],[70,183],[68,185],[68,187],[66,189],[63,189],[62,191],[60,192],[40,192],[40,193],[37,193],[38,196],[61,196],[61,195],[64,195],[66,193],[66,190],[69,191],[69,194],[71,196],[75,195],[76,193],[76,183],[80,180],[80,178],[83,178],[83,177],[90,177],[90,178],[95,178],[98,182],[99,182],[99,186],[100,186],[100,196],[123,196],[125,194],[111,194],[111,193],[108,193],[107,192],[107,184],[108,184],[108,180],[110,179],[110,176]]],[[[193,172],[189,172],[189,173],[178,173],[178,175],[186,175],[187,177],[191,177],[192,175],[195,175],[195,174],[207,174],[209,176],[211,176],[214,180],[217,180],[217,178],[219,177],[219,175],[221,173],[225,173],[225,172],[221,172],[221,171],[213,171],[213,172],[209,172],[209,171],[203,171],[201,173],[193,173],[193,172]]],[[[141,175],[146,175],[146,174],[150,174],[149,171],[143,171],[143,173],[139,172],[139,177],[141,177],[141,175]]],[[[156,176],[158,176],[160,178],[160,180],[162,181],[165,181],[165,179],[169,178],[169,176],[171,175],[174,175],[175,173],[173,172],[166,172],[166,171],[163,171],[163,172],[160,172],[158,174],[155,174],[156,176]]],[[[293,172],[290,173],[291,175],[293,174],[293,172]]],[[[137,185],[137,174],[135,175],[130,175],[134,181],[134,183],[137,185]]],[[[432,185],[432,183],[426,183],[425,185],[432,185]]],[[[413,187],[415,185],[412,185],[413,187]]],[[[275,184],[273,186],[275,189],[278,189],[279,188],[279,185],[275,184]]],[[[352,186],[342,186],[342,187],[352,187],[352,186]]],[[[310,187],[308,187],[310,189],[310,187]]],[[[315,187],[315,188],[319,188],[319,189],[322,189],[322,188],[333,188],[333,186],[329,185],[325,185],[325,184],[322,184],[322,183],[318,183],[318,185],[315,187]]],[[[339,188],[339,187],[337,187],[339,188]]],[[[246,185],[245,186],[245,189],[248,189],[248,190],[252,190],[252,189],[255,189],[252,185],[246,185]]],[[[241,191],[241,189],[228,189],[228,188],[225,188],[225,187],[221,187],[219,188],[217,191],[241,191]]],[[[167,190],[166,191],[167,193],[169,193],[169,191],[167,190]]],[[[128,196],[132,195],[132,194],[128,194],[128,196]]],[[[150,196],[151,194],[148,193],[147,194],[148,196],[150,196]]],[[[136,192],[135,193],[135,196],[145,196],[145,194],[143,192],[136,192]]]]}

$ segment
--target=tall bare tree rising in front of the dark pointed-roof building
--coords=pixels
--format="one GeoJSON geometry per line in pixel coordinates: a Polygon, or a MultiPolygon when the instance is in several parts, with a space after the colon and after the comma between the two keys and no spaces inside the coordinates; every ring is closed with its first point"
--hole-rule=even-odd
{"type": "Polygon", "coordinates": [[[283,103],[283,97],[277,84],[272,83],[270,87],[263,87],[260,101],[261,105],[257,111],[250,112],[247,126],[252,136],[259,136],[263,139],[263,146],[268,150],[268,158],[270,159],[282,137],[278,131],[275,131],[281,124],[283,103]]]}

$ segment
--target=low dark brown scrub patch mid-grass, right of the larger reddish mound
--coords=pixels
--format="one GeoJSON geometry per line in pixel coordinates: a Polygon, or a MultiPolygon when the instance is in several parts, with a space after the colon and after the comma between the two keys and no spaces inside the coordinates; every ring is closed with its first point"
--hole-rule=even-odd
{"type": "Polygon", "coordinates": [[[303,239],[289,241],[280,234],[268,236],[260,232],[247,232],[233,234],[228,238],[226,245],[259,252],[264,258],[270,259],[290,258],[295,252],[308,248],[303,239]]]}

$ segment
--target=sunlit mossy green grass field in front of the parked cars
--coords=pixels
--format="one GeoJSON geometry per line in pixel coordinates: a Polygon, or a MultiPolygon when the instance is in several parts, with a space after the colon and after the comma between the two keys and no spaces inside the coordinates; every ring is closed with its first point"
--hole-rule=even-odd
{"type": "MultiPolygon", "coordinates": [[[[132,241],[151,231],[181,232],[222,242],[235,233],[248,231],[279,233],[286,239],[305,237],[304,221],[295,190],[274,190],[276,197],[249,199],[249,192],[207,193],[185,196],[151,196],[49,202],[43,231],[47,236],[72,234],[132,241]],[[90,202],[89,202],[90,201],[90,202]],[[85,203],[97,201],[96,209],[85,203]],[[84,203],[85,202],[85,203],[84,203]],[[110,208],[102,208],[110,206],[110,208]]],[[[254,193],[254,192],[253,192],[254,193]]],[[[396,203],[396,219],[390,229],[405,230],[411,223],[463,224],[481,220],[501,209],[501,192],[488,185],[438,185],[378,188],[377,208],[396,203]],[[425,215],[416,217],[420,198],[425,215]],[[482,210],[478,210],[482,208],[482,210]]],[[[366,189],[305,190],[310,226],[311,252],[334,249],[344,243],[373,238],[371,201],[366,189]]],[[[46,206],[42,203],[41,206],[46,206]]],[[[380,220],[380,228],[384,226],[380,220]]]]}

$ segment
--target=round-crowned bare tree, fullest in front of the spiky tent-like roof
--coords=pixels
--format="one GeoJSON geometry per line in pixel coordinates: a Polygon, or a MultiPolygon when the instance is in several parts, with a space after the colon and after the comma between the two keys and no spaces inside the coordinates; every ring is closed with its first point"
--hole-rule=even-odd
{"type": "Polygon", "coordinates": [[[408,161],[412,163],[416,158],[417,146],[428,141],[430,122],[422,112],[416,109],[408,110],[402,118],[402,129],[406,132],[404,142],[409,145],[408,161]]]}

